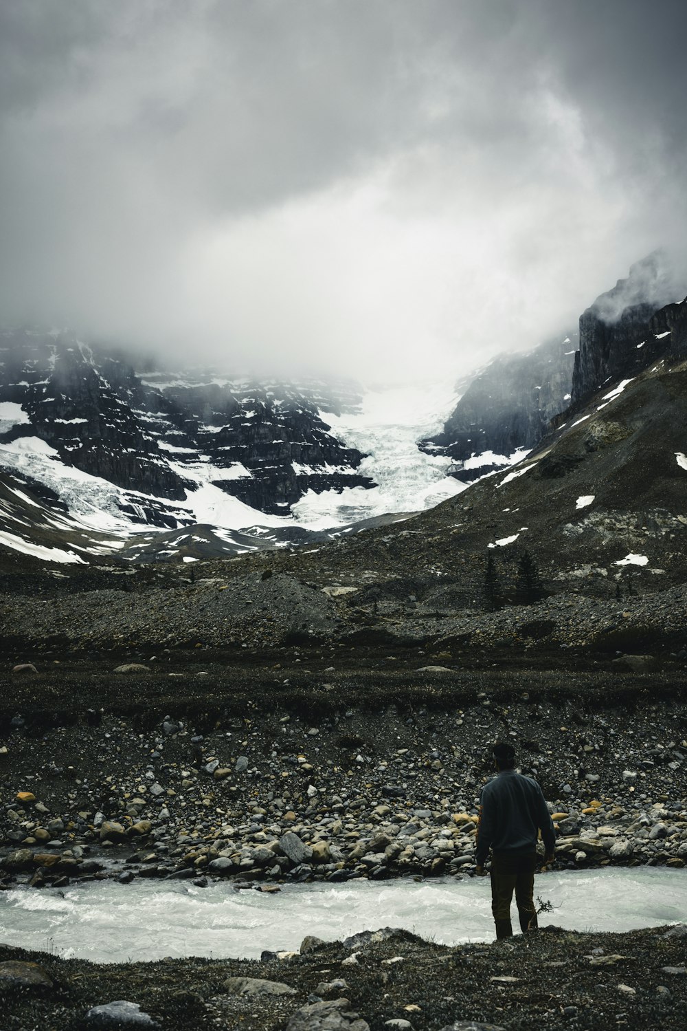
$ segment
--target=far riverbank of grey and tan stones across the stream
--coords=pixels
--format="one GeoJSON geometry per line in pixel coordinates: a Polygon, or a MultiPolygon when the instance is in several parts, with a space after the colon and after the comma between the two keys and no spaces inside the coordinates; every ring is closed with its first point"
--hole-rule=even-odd
{"type": "Polygon", "coordinates": [[[424,661],[36,658],[0,713],[2,883],[470,874],[504,738],[542,784],[558,866],[685,866],[679,677],[424,661]]]}

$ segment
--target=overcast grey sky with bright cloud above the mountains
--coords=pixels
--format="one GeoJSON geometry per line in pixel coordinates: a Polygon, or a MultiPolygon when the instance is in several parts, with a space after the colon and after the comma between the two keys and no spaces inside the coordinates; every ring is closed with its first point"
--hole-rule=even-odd
{"type": "Polygon", "coordinates": [[[684,0],[0,0],[0,322],[389,381],[533,346],[685,238],[686,32],[684,0]]]}

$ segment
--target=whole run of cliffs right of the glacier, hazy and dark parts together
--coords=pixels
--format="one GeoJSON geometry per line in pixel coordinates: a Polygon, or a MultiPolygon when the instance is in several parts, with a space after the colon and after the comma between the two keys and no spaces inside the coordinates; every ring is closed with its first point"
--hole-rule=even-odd
{"type": "Polygon", "coordinates": [[[580,317],[579,334],[496,358],[422,448],[449,455],[458,479],[477,479],[535,447],[551,421],[560,422],[604,385],[631,378],[665,355],[687,354],[687,302],[668,303],[681,287],[684,293],[664,252],[637,262],[580,317]]]}

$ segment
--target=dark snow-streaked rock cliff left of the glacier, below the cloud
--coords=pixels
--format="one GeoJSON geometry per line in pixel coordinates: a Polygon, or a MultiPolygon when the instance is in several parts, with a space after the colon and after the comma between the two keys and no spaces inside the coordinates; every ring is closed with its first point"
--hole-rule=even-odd
{"type": "Polygon", "coordinates": [[[156,499],[183,500],[203,481],[281,514],[308,490],[374,486],[355,471],[363,454],[319,414],[358,401],[350,384],[142,376],[69,334],[0,337],[0,403],[18,413],[0,441],[38,437],[65,464],[149,496],[132,500],[130,514],[158,525],[186,521],[156,499]]]}

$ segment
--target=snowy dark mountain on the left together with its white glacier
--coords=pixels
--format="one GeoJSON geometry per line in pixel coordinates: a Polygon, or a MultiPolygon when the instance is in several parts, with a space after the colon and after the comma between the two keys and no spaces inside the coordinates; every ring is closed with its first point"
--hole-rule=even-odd
{"type": "MultiPolygon", "coordinates": [[[[5,517],[19,490],[51,513],[44,533],[50,521],[72,529],[66,551],[75,555],[190,559],[285,546],[461,489],[446,476],[450,460],[416,446],[455,402],[451,389],[137,372],[56,331],[5,331],[0,362],[5,517]]],[[[22,550],[11,527],[3,542],[22,550]]]]}

